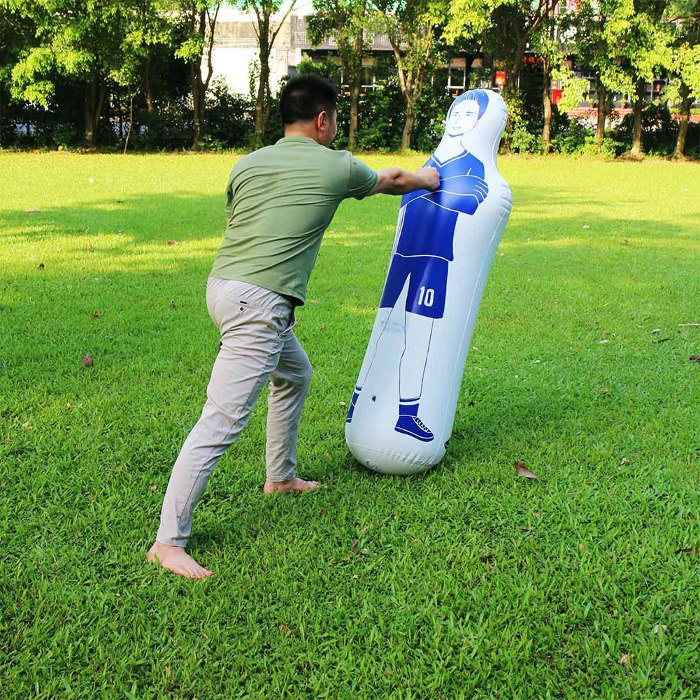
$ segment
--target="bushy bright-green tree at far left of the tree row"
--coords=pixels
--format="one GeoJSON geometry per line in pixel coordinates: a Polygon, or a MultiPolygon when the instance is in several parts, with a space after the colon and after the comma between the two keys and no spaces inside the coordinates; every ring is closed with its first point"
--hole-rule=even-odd
{"type": "MultiPolygon", "coordinates": [[[[8,6],[8,1],[3,3],[8,6]]],[[[85,145],[94,145],[106,81],[120,65],[123,3],[116,0],[28,0],[13,3],[36,26],[38,41],[12,71],[13,95],[48,104],[56,76],[85,87],[85,145]]]]}

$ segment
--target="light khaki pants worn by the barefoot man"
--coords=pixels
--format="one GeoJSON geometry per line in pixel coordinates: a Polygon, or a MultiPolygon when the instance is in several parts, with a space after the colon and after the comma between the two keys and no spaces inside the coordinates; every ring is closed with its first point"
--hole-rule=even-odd
{"type": "Polygon", "coordinates": [[[207,309],[221,330],[221,347],[202,416],[183,444],[165,492],[156,538],[165,545],[187,545],[192,513],[211,472],[240,435],[268,380],[267,480],[291,479],[296,467],[311,365],[292,330],[292,302],[252,284],[209,278],[207,309]]]}

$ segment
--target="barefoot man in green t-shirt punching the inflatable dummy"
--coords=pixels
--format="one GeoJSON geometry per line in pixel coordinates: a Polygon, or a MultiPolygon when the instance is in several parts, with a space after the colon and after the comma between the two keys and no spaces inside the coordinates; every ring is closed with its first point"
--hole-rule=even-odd
{"type": "Polygon", "coordinates": [[[207,281],[207,308],[221,331],[207,402],[170,476],[150,561],[190,578],[211,575],[185,547],[192,514],[218,459],[246,425],[269,381],[265,493],[313,491],[295,476],[299,421],[311,365],[292,330],[323,232],[347,197],[436,190],[432,167],[372,171],[332,151],[336,92],[318,76],[291,78],[281,94],[284,138],[234,166],[227,226],[207,281]]]}

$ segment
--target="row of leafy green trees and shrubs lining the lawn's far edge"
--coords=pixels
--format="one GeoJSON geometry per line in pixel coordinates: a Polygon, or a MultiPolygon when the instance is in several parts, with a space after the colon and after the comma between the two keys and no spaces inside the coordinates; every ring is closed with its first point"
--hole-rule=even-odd
{"type": "MultiPolygon", "coordinates": [[[[213,82],[223,3],[0,0],[0,142],[16,137],[17,123],[13,127],[8,116],[15,113],[24,115],[20,127],[36,144],[75,144],[73,137],[82,134],[87,146],[118,141],[126,150],[130,138],[137,148],[182,146],[187,130],[192,148],[227,139],[269,142],[267,132],[276,137],[281,130],[272,118],[278,86],[271,85],[270,58],[295,1],[228,0],[250,14],[258,38],[252,103],[213,82]],[[226,120],[234,115],[237,124],[228,128],[226,120]],[[141,129],[132,134],[134,126],[141,129]]],[[[675,130],[675,155],[695,153],[700,0],[579,0],[566,8],[563,0],[313,4],[311,41],[332,37],[337,47],[332,60],[339,69],[329,71],[342,87],[339,138],[349,148],[429,146],[451,99],[442,71],[458,57],[466,65],[467,85],[484,79],[489,85],[496,71],[505,73],[502,92],[511,118],[504,143],[515,151],[617,153],[629,147],[632,155],[645,148],[667,153],[668,134],[675,130]],[[391,43],[381,59],[371,50],[375,31],[386,32],[391,43]],[[573,72],[572,57],[590,81],[573,72]],[[365,92],[363,71],[370,65],[381,73],[381,84],[365,92]],[[647,104],[654,78],[666,83],[665,92],[647,104]],[[553,81],[563,88],[558,109],[553,81]],[[595,139],[589,134],[581,141],[579,126],[563,113],[584,97],[597,108],[597,125],[595,139]],[[620,99],[633,106],[633,115],[611,134],[612,107],[620,99]],[[659,108],[667,100],[677,106],[675,113],[659,108]],[[656,134],[651,141],[649,130],[656,134]]]]}

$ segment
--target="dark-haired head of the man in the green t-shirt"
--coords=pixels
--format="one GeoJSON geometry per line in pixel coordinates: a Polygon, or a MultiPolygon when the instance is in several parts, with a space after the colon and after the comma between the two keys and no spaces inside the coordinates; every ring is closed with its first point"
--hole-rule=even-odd
{"type": "Polygon", "coordinates": [[[295,76],[283,87],[279,110],[285,136],[307,136],[323,146],[335,139],[337,92],[321,76],[295,76]]]}

